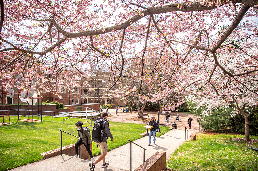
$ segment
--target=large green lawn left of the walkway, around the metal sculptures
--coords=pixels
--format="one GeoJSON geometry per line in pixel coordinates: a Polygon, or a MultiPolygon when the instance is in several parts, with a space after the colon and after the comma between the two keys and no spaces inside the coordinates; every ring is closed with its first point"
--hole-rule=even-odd
{"type": "MultiPolygon", "coordinates": [[[[20,117],[26,119],[26,117],[20,117]]],[[[38,117],[33,117],[38,119],[38,117]]],[[[75,123],[83,121],[84,126],[89,124],[83,119],[68,119],[64,124],[60,123],[62,118],[43,117],[43,122],[29,123],[17,121],[17,116],[11,116],[11,125],[0,126],[0,171],[16,168],[24,164],[35,162],[42,159],[40,153],[46,152],[61,146],[61,129],[68,133],[78,136],[75,123]]],[[[89,120],[90,122],[90,120],[89,120]]],[[[132,123],[109,122],[110,130],[114,136],[111,142],[108,139],[108,149],[112,150],[124,144],[130,139],[132,141],[141,138],[139,134],[146,131],[144,125],[132,123]]],[[[160,127],[162,133],[168,131],[168,127],[160,127]]],[[[92,131],[92,128],[90,127],[92,131]]],[[[76,137],[63,133],[63,146],[73,144],[77,141],[76,137]]],[[[93,143],[92,154],[100,154],[96,143],[93,143]]]]}

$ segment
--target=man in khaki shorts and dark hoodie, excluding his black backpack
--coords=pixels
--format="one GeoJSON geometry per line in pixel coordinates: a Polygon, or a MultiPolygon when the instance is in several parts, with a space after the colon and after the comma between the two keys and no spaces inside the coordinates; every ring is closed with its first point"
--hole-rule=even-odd
{"type": "MultiPolygon", "coordinates": [[[[107,139],[108,137],[110,137],[111,141],[113,141],[113,135],[110,133],[110,128],[109,128],[109,123],[107,121],[107,117],[108,117],[108,113],[107,112],[102,112],[101,113],[101,117],[97,118],[94,122],[94,126],[96,123],[102,123],[103,125],[103,139],[101,142],[99,142],[96,139],[92,139],[92,141],[97,143],[98,148],[101,150],[101,154],[100,156],[97,158],[97,160],[95,160],[95,162],[90,162],[89,166],[90,166],[90,171],[94,171],[95,169],[95,165],[100,162],[102,160],[103,164],[102,164],[102,168],[105,168],[107,166],[109,166],[109,163],[106,162],[105,157],[107,156],[107,139]]],[[[93,127],[94,129],[94,127],[93,127]]],[[[93,133],[93,131],[92,131],[93,133]]],[[[93,135],[92,135],[93,137],[93,135]]]]}

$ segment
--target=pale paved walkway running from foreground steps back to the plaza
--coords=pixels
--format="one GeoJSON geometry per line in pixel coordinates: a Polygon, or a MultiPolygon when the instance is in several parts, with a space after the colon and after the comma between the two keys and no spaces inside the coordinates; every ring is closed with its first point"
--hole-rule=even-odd
{"type": "MultiPolygon", "coordinates": [[[[143,123],[142,121],[132,121],[127,120],[129,118],[137,117],[136,113],[132,114],[125,114],[125,113],[118,113],[118,116],[115,115],[114,109],[109,109],[109,111],[112,112],[112,115],[110,117],[111,121],[115,122],[128,122],[128,123],[143,123]]],[[[157,118],[157,114],[150,113],[152,116],[155,116],[157,118]]],[[[177,129],[173,129],[171,131],[168,131],[166,134],[156,137],[156,145],[148,146],[149,137],[145,136],[143,138],[137,139],[134,141],[136,144],[139,144],[143,148],[146,148],[145,151],[145,160],[147,160],[149,157],[151,157],[155,152],[157,151],[165,151],[166,152],[166,159],[170,157],[170,155],[180,146],[180,144],[185,142],[185,126],[189,125],[187,124],[187,119],[189,118],[189,114],[180,114],[179,121],[175,121],[178,125],[177,129]]],[[[172,120],[175,120],[175,113],[171,114],[170,117],[170,123],[172,120]]],[[[146,122],[147,123],[147,122],[146,122]]],[[[160,117],[160,123],[166,124],[165,116],[160,117]]],[[[172,125],[172,123],[171,123],[172,125]]],[[[193,122],[191,125],[192,129],[189,130],[189,135],[191,133],[198,133],[198,124],[196,123],[195,117],[193,117],[193,122]]],[[[112,131],[112,130],[111,130],[112,131]]],[[[153,137],[151,137],[151,141],[153,144],[153,137]]],[[[98,156],[95,156],[97,158],[98,156]]],[[[116,148],[114,150],[111,150],[107,153],[106,161],[109,161],[110,166],[107,168],[101,168],[102,162],[99,162],[96,164],[95,171],[126,171],[130,170],[130,143],[121,146],[119,148],[116,148]]],[[[25,166],[21,166],[18,168],[12,169],[12,171],[63,171],[63,170],[69,170],[69,171],[78,171],[78,170],[86,170],[90,171],[90,168],[88,166],[89,161],[73,158],[71,156],[67,155],[59,155],[56,157],[48,158],[45,160],[41,160],[38,162],[34,162],[25,166]],[[80,168],[80,169],[79,169],[80,168]]],[[[136,146],[135,144],[132,144],[132,170],[136,169],[138,166],[140,166],[143,163],[143,149],[139,146],[136,146]]]]}

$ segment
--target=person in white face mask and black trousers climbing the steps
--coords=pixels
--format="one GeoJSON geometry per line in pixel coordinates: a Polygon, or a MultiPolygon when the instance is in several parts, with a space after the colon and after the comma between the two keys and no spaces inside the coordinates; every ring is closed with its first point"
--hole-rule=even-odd
{"type": "Polygon", "coordinates": [[[79,146],[81,144],[83,144],[87,150],[87,152],[90,155],[90,160],[92,162],[94,162],[94,157],[92,156],[92,152],[90,150],[90,129],[88,127],[82,127],[83,122],[78,121],[75,123],[76,127],[77,127],[77,131],[78,131],[78,136],[79,139],[78,141],[75,143],[74,147],[75,147],[75,155],[73,157],[77,157],[79,158],[79,146]]]}

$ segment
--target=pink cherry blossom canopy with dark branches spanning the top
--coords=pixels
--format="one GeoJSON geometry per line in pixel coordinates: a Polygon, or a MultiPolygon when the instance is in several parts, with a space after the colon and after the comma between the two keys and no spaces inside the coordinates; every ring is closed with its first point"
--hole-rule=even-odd
{"type": "Polygon", "coordinates": [[[50,82],[40,83],[46,91],[53,91],[51,79],[60,74],[67,79],[56,84],[78,84],[97,63],[111,73],[107,89],[120,87],[117,94],[131,79],[137,86],[127,88],[127,95],[134,94],[139,103],[176,98],[166,111],[183,103],[182,95],[193,86],[203,94],[204,85],[221,89],[213,82],[217,70],[222,80],[234,80],[257,95],[243,81],[257,75],[257,23],[251,21],[257,20],[256,1],[18,0],[2,7],[0,70],[1,79],[10,80],[6,87],[37,59],[44,62],[42,72],[24,76],[47,75],[50,82]]]}

